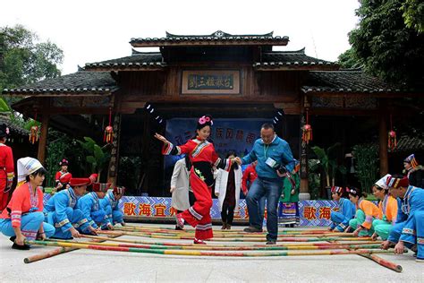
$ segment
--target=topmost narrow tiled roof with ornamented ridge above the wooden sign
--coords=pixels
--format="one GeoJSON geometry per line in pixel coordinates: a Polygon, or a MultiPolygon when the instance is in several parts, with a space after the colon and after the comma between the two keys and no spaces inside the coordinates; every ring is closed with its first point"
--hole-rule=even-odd
{"type": "Polygon", "coordinates": [[[166,32],[165,38],[131,39],[132,47],[159,47],[184,45],[275,45],[285,46],[288,37],[274,37],[273,33],[262,35],[232,35],[221,30],[209,35],[174,35],[166,32]]]}

